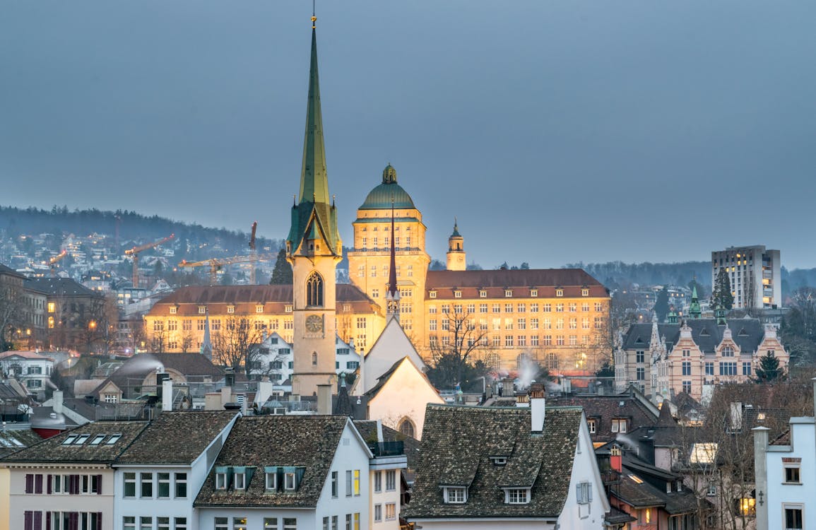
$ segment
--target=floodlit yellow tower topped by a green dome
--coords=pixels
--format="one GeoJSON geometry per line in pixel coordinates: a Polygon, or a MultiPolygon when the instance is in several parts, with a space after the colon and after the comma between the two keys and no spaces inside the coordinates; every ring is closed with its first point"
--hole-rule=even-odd
{"type": "MultiPolygon", "coordinates": [[[[383,170],[382,183],[372,189],[357,208],[353,227],[354,245],[348,251],[348,275],[352,283],[380,307],[386,307],[393,238],[400,291],[400,323],[409,336],[415,329],[423,330],[425,276],[431,262],[425,252],[426,228],[422,213],[397,183],[397,170],[391,164],[383,170]]],[[[357,346],[366,348],[366,345],[357,346]]]]}

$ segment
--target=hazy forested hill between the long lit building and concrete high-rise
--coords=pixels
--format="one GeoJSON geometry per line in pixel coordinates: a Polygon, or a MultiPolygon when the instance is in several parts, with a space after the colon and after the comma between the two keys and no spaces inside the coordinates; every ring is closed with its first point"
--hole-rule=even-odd
{"type": "Polygon", "coordinates": [[[700,285],[710,287],[712,265],[708,261],[684,261],[682,263],[572,263],[566,268],[586,270],[606,287],[623,287],[630,283],[640,285],[688,285],[696,276],[700,285]]]}

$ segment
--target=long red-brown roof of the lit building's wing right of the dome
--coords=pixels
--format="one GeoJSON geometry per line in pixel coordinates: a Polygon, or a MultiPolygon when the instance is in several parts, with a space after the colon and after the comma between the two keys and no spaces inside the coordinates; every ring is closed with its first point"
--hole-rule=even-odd
{"type": "Polygon", "coordinates": [[[529,288],[539,290],[539,298],[554,297],[556,287],[564,290],[565,297],[581,296],[588,288],[589,296],[608,297],[609,293],[595,278],[583,269],[499,269],[499,270],[428,270],[425,279],[425,297],[428,291],[437,291],[437,298],[454,298],[453,288],[463,291],[463,298],[478,298],[478,290],[488,291],[488,298],[503,298],[505,288],[519,288],[513,297],[529,297],[529,288]]]}

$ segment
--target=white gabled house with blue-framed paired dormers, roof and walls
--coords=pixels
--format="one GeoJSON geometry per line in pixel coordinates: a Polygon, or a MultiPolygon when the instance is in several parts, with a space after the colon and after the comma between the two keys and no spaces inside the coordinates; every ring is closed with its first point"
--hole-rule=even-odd
{"type": "Polygon", "coordinates": [[[239,418],[196,497],[198,528],[368,528],[374,457],[348,417],[239,418]]]}

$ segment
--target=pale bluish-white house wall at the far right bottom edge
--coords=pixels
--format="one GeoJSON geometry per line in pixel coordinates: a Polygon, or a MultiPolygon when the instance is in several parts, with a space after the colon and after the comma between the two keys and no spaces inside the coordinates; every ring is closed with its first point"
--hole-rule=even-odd
{"type": "MultiPolygon", "coordinates": [[[[816,528],[816,425],[813,418],[791,418],[792,451],[774,451],[769,447],[768,466],[768,528],[784,528],[783,504],[804,506],[805,528],[816,528]],[[807,423],[799,421],[809,421],[807,423]],[[800,485],[784,484],[783,458],[801,458],[800,485]]],[[[780,448],[781,449],[781,448],[780,448]]]]}

